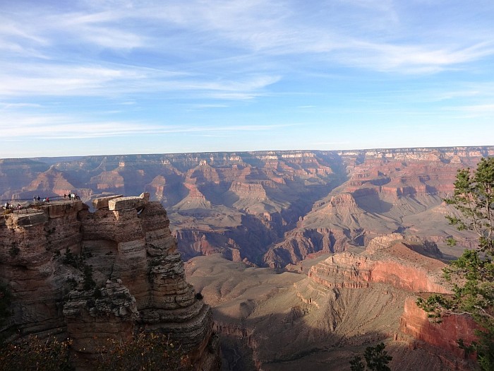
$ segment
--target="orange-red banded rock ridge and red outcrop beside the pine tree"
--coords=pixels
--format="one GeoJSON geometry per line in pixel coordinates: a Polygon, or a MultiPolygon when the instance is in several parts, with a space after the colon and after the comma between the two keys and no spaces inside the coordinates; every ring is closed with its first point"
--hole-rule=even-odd
{"type": "MultiPolygon", "coordinates": [[[[445,264],[438,260],[441,256],[433,242],[418,237],[405,239],[392,233],[371,240],[363,252],[343,252],[320,261],[311,267],[308,277],[335,293],[348,289],[367,291],[382,284],[408,293],[401,304],[399,331],[388,335],[406,341],[409,341],[407,336],[411,336],[414,338],[412,346],[437,348],[445,357],[445,363],[453,365],[454,359],[447,355],[457,359],[465,356],[457,340],[462,338],[466,344],[476,340],[474,320],[467,314],[445,314],[441,322],[434,322],[416,305],[418,296],[452,293],[450,285],[442,279],[445,264]]],[[[315,295],[317,290],[298,290],[304,302],[321,306],[319,296],[315,295]]]]}

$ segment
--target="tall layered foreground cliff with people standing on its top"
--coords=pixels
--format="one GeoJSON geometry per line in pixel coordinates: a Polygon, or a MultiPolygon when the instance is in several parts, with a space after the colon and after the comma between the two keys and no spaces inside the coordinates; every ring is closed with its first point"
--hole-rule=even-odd
{"type": "Polygon", "coordinates": [[[216,370],[210,307],[185,281],[167,212],[149,194],[55,201],[0,223],[0,279],[14,295],[18,334],[73,339],[79,369],[107,338],[159,331],[183,344],[195,367],[216,370]]]}

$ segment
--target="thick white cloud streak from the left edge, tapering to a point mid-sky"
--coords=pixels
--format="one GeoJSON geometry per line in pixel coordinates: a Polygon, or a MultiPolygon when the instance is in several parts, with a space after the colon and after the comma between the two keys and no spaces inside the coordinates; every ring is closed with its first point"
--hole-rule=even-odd
{"type": "MultiPolygon", "coordinates": [[[[1,64],[0,64],[1,65],[1,64]]],[[[248,76],[238,80],[204,81],[137,67],[67,66],[60,64],[12,67],[16,74],[0,72],[0,97],[11,96],[120,96],[164,91],[209,92],[215,98],[249,99],[279,76],[248,76]]]]}

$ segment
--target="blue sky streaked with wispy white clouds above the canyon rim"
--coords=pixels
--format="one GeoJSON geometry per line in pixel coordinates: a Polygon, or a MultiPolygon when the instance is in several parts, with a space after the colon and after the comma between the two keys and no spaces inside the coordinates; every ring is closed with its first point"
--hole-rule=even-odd
{"type": "Polygon", "coordinates": [[[494,1],[0,0],[0,158],[494,144],[494,1]]]}

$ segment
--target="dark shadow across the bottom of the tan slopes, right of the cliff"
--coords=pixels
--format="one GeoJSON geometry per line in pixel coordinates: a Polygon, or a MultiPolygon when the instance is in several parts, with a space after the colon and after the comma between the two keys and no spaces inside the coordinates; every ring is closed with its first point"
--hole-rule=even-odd
{"type": "Polygon", "coordinates": [[[253,329],[241,322],[222,326],[218,321],[231,323],[237,319],[220,316],[215,326],[221,338],[222,370],[349,371],[352,358],[359,355],[363,359],[368,346],[381,342],[393,357],[391,370],[463,370],[438,349],[418,347],[403,334],[370,331],[347,337],[308,325],[303,317],[294,319],[293,315],[273,313],[260,317],[253,329]]]}

